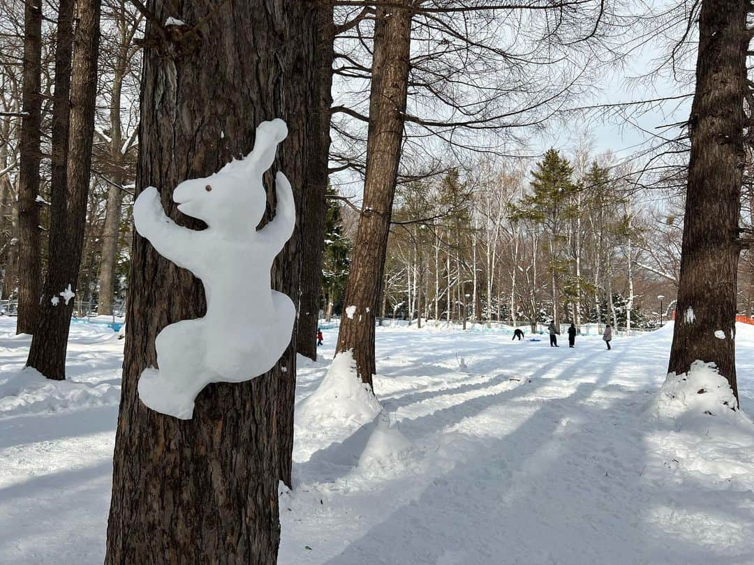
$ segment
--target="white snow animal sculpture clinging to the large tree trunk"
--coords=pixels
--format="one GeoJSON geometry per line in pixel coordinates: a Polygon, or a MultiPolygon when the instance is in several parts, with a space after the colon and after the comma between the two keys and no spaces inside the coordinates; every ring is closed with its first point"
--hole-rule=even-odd
{"type": "Polygon", "coordinates": [[[160,255],[201,279],[207,295],[203,318],[170,324],[155,340],[159,368],[147,368],[139,378],[139,398],[152,410],[189,420],[204,386],[258,377],[290,343],[296,307],[270,288],[272,261],[296,223],[293,192],[283,173],[275,179],[274,219],[256,230],[267,200],[262,174],[287,134],[282,120],[262,122],[247,157],[176,187],[178,209],[203,220],[204,231],[168,218],[154,187],[133,203],[136,231],[160,255]]]}

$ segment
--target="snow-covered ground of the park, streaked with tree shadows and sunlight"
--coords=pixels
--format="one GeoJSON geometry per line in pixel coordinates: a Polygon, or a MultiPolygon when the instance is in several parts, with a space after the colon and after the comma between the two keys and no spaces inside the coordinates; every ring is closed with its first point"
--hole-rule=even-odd
{"type": "MultiPolygon", "coordinates": [[[[0,563],[101,563],[123,341],[73,325],[70,380],[51,383],[19,374],[29,339],[13,324],[0,317],[0,563]]],[[[322,361],[300,362],[299,403],[336,331],[323,332],[322,361]]],[[[317,403],[299,404],[319,427],[297,427],[279,562],[754,563],[754,426],[656,417],[671,332],[608,352],[593,337],[571,350],[380,328],[387,415],[339,433],[311,420],[317,403]]],[[[754,328],[739,325],[737,352],[754,414],[754,328]]]]}

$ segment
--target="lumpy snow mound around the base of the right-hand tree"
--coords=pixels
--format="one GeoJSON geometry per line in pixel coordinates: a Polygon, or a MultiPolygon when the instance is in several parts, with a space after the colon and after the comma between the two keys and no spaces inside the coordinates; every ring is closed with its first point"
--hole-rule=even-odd
{"type": "Polygon", "coordinates": [[[660,392],[647,407],[648,416],[673,422],[676,428],[708,427],[710,417],[743,426],[754,432],[754,423],[743,414],[728,380],[714,363],[694,361],[688,373],[667,375],[660,392]]]}

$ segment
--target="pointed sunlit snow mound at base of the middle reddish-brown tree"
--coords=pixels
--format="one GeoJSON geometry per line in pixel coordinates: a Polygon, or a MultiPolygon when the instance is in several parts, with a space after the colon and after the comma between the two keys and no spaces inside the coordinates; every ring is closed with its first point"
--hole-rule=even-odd
{"type": "MultiPolygon", "coordinates": [[[[297,443],[306,444],[311,455],[350,437],[380,412],[382,405],[360,379],[353,353],[338,353],[317,389],[296,405],[296,438],[307,438],[297,443]]],[[[307,454],[296,454],[297,460],[306,458],[307,454]]]]}

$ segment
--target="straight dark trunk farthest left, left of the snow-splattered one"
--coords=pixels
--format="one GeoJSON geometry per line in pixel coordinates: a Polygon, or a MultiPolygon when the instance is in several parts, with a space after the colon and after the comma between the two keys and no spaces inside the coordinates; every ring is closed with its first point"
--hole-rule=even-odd
{"type": "Polygon", "coordinates": [[[41,3],[23,10],[23,98],[18,182],[18,318],[17,334],[31,334],[39,311],[39,161],[41,126],[41,3]]]}

